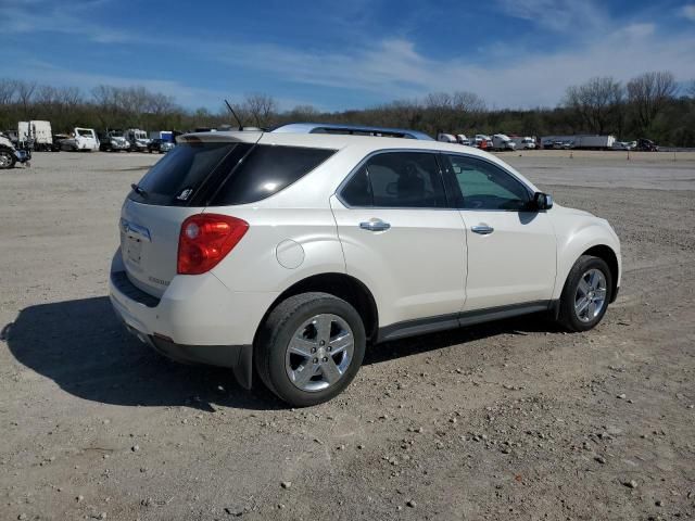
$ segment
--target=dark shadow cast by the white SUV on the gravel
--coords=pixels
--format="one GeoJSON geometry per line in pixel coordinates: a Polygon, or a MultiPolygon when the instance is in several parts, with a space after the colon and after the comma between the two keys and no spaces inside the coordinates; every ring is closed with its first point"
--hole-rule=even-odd
{"type": "MultiPolygon", "coordinates": [[[[431,352],[501,333],[546,331],[541,320],[522,318],[399,340],[367,351],[365,364],[431,352]]],[[[250,409],[287,408],[258,383],[239,386],[231,371],[169,361],[125,331],[105,296],[40,304],[23,309],[0,332],[24,366],[84,399],[124,406],[213,405],[250,409]]]]}

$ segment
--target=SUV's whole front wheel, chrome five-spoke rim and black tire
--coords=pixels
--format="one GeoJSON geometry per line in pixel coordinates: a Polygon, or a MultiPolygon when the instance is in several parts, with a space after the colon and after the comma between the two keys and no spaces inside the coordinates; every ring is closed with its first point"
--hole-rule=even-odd
{"type": "Polygon", "coordinates": [[[587,331],[606,314],[612,275],[605,260],[582,255],[572,266],[560,296],[559,323],[569,331],[587,331]]]}

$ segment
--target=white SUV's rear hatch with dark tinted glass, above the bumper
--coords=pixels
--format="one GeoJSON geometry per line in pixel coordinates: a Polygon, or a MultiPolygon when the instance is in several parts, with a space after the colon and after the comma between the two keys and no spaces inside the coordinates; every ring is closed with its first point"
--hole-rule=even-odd
{"type": "Polygon", "coordinates": [[[134,185],[121,214],[121,253],[128,279],[162,296],[176,275],[184,220],[210,196],[261,138],[260,132],[191,135],[134,185]]]}

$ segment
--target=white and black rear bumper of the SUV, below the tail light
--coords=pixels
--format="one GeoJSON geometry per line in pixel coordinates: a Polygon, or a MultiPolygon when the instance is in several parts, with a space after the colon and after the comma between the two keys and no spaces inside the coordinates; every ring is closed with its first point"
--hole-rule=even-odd
{"type": "Polygon", "coordinates": [[[130,282],[119,250],[109,288],[116,315],[142,342],[178,361],[232,368],[251,385],[253,338],[276,294],[232,292],[205,274],[174,277],[157,298],[130,282]]]}

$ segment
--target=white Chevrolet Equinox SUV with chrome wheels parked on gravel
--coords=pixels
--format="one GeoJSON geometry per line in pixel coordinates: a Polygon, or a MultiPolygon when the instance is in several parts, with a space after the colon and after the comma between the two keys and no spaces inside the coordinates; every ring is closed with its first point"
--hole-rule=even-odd
{"type": "Polygon", "coordinates": [[[604,219],[493,155],[326,134],[179,138],[123,205],[111,301],[166,356],[330,399],[383,341],[527,313],[598,323],[620,284],[604,219]]]}

